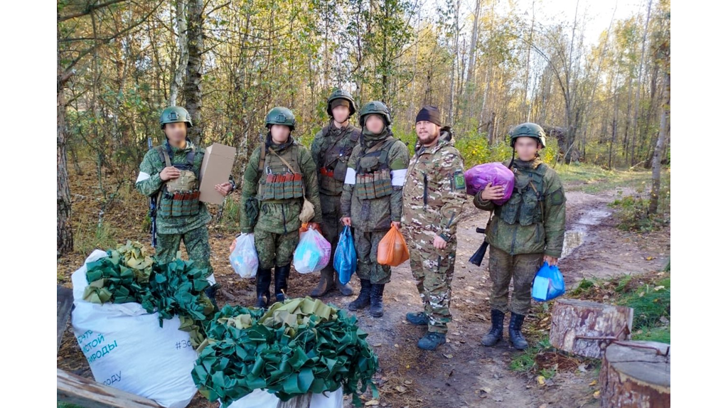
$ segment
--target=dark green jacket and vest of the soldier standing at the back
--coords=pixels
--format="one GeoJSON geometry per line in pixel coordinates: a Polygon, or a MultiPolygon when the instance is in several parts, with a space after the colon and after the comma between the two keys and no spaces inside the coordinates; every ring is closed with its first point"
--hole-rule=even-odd
{"type": "Polygon", "coordinates": [[[327,196],[341,196],[344,190],[344,179],[347,175],[349,156],[359,142],[361,131],[351,124],[341,129],[331,121],[321,129],[311,145],[311,156],[316,162],[319,180],[319,193],[327,196]],[[325,175],[322,172],[331,174],[325,175]],[[333,175],[333,177],[331,177],[333,175]]]}

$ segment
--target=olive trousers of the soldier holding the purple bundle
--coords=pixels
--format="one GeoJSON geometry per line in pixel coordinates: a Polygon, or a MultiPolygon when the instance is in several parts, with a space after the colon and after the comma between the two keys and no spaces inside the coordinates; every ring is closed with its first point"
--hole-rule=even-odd
{"type": "Polygon", "coordinates": [[[491,309],[506,313],[508,311],[508,287],[513,279],[513,294],[510,298],[510,311],[526,315],[531,307],[531,282],[541,268],[543,254],[510,255],[508,252],[490,247],[488,273],[491,289],[491,309]]]}

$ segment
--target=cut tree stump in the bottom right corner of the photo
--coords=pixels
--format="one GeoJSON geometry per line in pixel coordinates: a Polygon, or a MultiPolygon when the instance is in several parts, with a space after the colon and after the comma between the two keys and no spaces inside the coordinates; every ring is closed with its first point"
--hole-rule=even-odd
{"type": "Polygon", "coordinates": [[[604,353],[599,385],[601,407],[670,407],[670,345],[612,343],[604,353]]]}

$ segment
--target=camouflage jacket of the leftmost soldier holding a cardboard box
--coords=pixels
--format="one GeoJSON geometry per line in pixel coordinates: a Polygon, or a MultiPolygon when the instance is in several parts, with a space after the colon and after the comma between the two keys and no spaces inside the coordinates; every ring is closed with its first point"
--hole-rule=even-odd
{"type": "MultiPolygon", "coordinates": [[[[163,145],[166,148],[167,143],[163,145]]],[[[170,161],[173,164],[186,163],[187,153],[194,148],[191,142],[187,142],[185,148],[172,148],[170,161]]],[[[194,153],[194,172],[199,177],[199,168],[202,167],[202,159],[205,157],[205,150],[195,148],[194,153]]],[[[165,162],[159,157],[157,148],[153,148],[146,152],[144,159],[139,166],[139,177],[136,180],[136,189],[145,196],[157,196],[160,188],[165,182],[159,177],[159,173],[165,169],[165,162]]],[[[160,200],[168,200],[164,194],[160,200]]],[[[162,202],[157,202],[157,208],[162,206],[162,202]]],[[[202,201],[199,202],[199,212],[196,215],[187,215],[182,217],[162,217],[157,215],[157,233],[186,233],[187,231],[199,228],[210,222],[212,218],[207,212],[207,206],[202,201]]]]}

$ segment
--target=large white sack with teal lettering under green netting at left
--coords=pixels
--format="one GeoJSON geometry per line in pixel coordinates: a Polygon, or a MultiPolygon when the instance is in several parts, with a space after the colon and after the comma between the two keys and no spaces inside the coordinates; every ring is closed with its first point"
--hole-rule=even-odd
{"type": "Polygon", "coordinates": [[[163,407],[186,407],[197,393],[191,371],[197,353],[177,317],[159,327],[159,314],[139,303],[98,305],[83,300],[86,263],[106,257],[96,250],[71,276],[76,340],[94,379],[122,391],[157,401],[163,407]]]}

